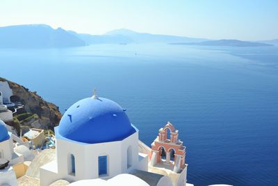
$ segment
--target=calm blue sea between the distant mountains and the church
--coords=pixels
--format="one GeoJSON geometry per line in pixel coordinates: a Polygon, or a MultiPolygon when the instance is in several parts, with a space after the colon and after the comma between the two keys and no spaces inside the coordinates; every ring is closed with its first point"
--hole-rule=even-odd
{"type": "Polygon", "coordinates": [[[167,121],[195,185],[278,185],[278,47],[0,49],[0,77],[64,111],[92,95],[127,109],[149,145],[167,121]]]}

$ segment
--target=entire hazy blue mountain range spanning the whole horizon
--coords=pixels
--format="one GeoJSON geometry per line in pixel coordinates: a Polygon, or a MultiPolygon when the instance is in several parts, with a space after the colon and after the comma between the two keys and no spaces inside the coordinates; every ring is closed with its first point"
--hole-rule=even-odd
{"type": "Polygon", "coordinates": [[[129,29],[117,29],[103,35],[76,33],[58,28],[53,29],[46,24],[26,24],[0,27],[0,48],[51,48],[79,47],[85,45],[111,43],[169,43],[172,45],[205,45],[259,47],[278,45],[278,40],[263,42],[247,42],[242,40],[207,40],[204,38],[188,38],[152,33],[139,33],[129,29]],[[267,44],[268,43],[268,44],[267,44]]]}

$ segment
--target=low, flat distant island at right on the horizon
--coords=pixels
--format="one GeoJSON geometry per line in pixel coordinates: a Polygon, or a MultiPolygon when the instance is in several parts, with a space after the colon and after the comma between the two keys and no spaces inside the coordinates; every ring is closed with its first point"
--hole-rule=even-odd
{"type": "Polygon", "coordinates": [[[273,46],[262,42],[249,42],[243,40],[207,40],[204,42],[172,42],[170,45],[202,45],[202,46],[228,46],[228,47],[267,47],[273,46]]]}

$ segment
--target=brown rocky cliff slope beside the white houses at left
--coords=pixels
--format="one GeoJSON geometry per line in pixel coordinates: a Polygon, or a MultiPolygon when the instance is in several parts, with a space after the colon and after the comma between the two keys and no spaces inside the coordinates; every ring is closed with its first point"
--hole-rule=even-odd
{"type": "Polygon", "coordinates": [[[38,115],[40,125],[37,125],[37,127],[42,129],[53,129],[53,127],[58,125],[62,114],[60,114],[55,104],[43,100],[36,92],[31,92],[28,88],[16,84],[15,82],[10,82],[1,77],[0,81],[8,82],[10,88],[13,90],[13,95],[17,96],[19,101],[24,104],[26,111],[38,115]]]}

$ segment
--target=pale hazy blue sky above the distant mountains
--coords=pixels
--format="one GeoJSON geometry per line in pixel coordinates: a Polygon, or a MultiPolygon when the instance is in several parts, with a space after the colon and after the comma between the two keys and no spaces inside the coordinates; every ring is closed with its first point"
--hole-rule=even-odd
{"type": "Polygon", "coordinates": [[[264,40],[278,38],[278,0],[0,0],[0,26],[38,23],[92,34],[126,28],[264,40]]]}

